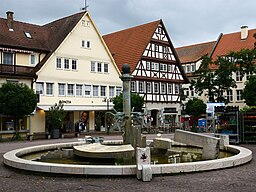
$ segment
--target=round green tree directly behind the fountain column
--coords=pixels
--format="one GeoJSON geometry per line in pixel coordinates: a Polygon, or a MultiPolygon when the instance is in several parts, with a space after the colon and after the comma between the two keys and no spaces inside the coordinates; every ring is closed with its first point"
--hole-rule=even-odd
{"type": "MultiPolygon", "coordinates": [[[[116,111],[123,111],[123,93],[113,98],[114,109],[116,111]]],[[[134,111],[142,111],[144,105],[144,98],[136,93],[131,93],[131,109],[134,107],[134,111]]]]}

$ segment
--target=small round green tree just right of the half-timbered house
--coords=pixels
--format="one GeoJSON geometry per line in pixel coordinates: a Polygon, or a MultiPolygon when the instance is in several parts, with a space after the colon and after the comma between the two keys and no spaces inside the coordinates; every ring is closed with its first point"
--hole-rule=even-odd
{"type": "Polygon", "coordinates": [[[185,104],[185,112],[188,115],[199,117],[206,113],[206,104],[201,99],[193,98],[185,104]]]}

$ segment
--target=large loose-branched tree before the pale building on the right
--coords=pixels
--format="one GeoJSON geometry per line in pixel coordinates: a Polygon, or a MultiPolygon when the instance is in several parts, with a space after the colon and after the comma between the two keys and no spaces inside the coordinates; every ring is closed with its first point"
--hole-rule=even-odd
{"type": "Polygon", "coordinates": [[[232,73],[239,71],[242,76],[246,73],[256,72],[254,60],[256,57],[256,49],[242,49],[237,52],[218,57],[212,62],[208,56],[202,57],[201,67],[196,73],[198,78],[192,81],[196,93],[201,95],[204,91],[208,95],[209,102],[229,102],[223,93],[230,88],[236,87],[236,81],[232,78],[232,73]],[[218,69],[212,71],[209,66],[217,65],[218,69]]]}

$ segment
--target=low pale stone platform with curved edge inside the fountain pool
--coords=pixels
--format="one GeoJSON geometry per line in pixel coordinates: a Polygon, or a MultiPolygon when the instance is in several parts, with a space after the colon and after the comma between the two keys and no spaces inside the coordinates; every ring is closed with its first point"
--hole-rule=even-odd
{"type": "Polygon", "coordinates": [[[129,158],[135,155],[132,145],[85,144],[73,147],[75,155],[89,158],[129,158]]]}

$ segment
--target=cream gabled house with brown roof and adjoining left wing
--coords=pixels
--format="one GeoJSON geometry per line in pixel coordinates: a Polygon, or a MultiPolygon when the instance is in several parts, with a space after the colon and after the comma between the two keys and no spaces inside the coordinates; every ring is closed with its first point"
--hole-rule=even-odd
{"type": "MultiPolygon", "coordinates": [[[[48,132],[49,108],[64,101],[67,116],[63,132],[74,132],[76,125],[83,131],[102,130],[104,114],[113,107],[110,99],[121,92],[122,82],[89,13],[80,12],[44,26],[14,21],[12,14],[13,30],[8,29],[8,19],[0,19],[0,25],[8,29],[0,29],[0,66],[12,64],[30,71],[23,76],[17,76],[18,70],[7,75],[1,71],[0,80],[26,81],[39,95],[38,107],[25,129],[29,134],[48,132]]],[[[5,129],[3,126],[2,131],[5,129]]]]}

